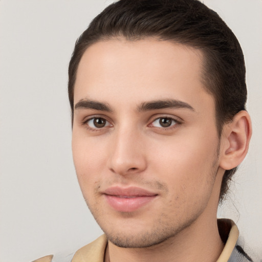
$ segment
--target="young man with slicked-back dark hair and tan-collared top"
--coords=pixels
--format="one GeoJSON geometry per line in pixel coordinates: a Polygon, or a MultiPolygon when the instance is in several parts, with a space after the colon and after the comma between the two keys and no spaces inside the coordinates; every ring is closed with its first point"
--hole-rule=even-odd
{"type": "Polygon", "coordinates": [[[199,1],[100,13],[76,42],[69,99],[78,181],[105,234],[63,261],[252,261],[216,220],[248,151],[246,97],[241,47],[199,1]]]}

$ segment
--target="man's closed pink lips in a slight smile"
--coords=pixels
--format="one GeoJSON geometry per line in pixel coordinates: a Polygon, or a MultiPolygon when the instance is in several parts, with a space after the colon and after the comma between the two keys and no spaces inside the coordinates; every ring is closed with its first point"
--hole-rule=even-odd
{"type": "Polygon", "coordinates": [[[139,187],[110,187],[103,191],[107,203],[116,211],[133,212],[149,204],[157,193],[139,187]]]}

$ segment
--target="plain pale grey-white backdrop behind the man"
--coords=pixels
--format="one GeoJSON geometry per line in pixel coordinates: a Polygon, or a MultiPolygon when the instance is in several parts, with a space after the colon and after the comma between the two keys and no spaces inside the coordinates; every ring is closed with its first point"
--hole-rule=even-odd
{"type": "MultiPolygon", "coordinates": [[[[71,253],[102,233],[75,176],[67,70],[77,37],[111,2],[0,1],[1,262],[71,253]]],[[[242,45],[253,121],[249,154],[218,216],[233,219],[261,258],[262,1],[204,3],[242,45]]]]}

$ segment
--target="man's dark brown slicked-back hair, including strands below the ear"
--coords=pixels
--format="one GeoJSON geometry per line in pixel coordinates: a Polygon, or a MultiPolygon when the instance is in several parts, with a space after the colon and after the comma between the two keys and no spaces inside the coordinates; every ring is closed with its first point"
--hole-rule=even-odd
{"type": "MultiPolygon", "coordinates": [[[[83,53],[98,41],[117,37],[130,41],[155,37],[201,50],[202,79],[206,91],[214,97],[219,139],[224,124],[246,110],[244,55],[235,35],[216,12],[198,0],[120,0],[98,14],[76,41],[68,82],[72,124],[74,84],[83,53]]],[[[236,169],[225,171],[220,202],[236,169]]]]}

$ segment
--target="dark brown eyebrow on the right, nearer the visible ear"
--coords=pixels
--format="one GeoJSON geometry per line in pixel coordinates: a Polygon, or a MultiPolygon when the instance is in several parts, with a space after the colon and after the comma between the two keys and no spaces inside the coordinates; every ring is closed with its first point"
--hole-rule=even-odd
{"type": "Polygon", "coordinates": [[[150,111],[150,110],[158,110],[163,108],[187,108],[191,111],[194,111],[194,108],[190,104],[176,99],[144,102],[138,106],[138,111],[139,112],[150,111]]]}

